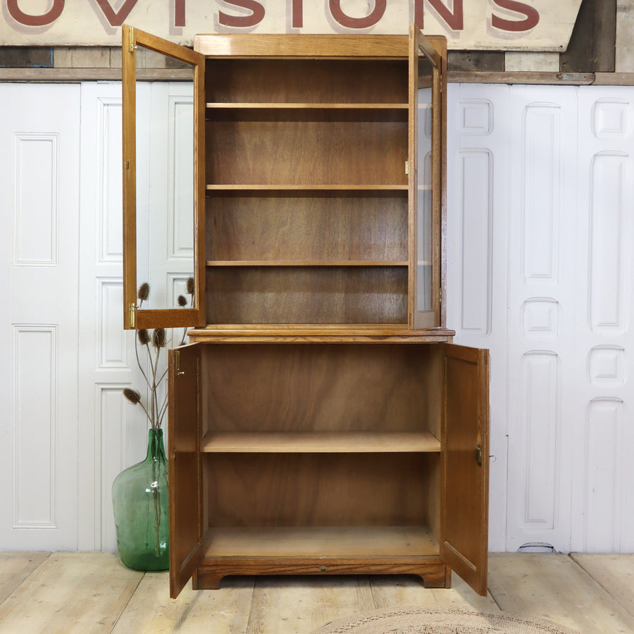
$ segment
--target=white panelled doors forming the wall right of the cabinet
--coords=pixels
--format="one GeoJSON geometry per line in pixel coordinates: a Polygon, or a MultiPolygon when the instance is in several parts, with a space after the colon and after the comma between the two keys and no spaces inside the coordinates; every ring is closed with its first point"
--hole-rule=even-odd
{"type": "Polygon", "coordinates": [[[449,85],[448,310],[491,349],[490,549],[634,548],[634,89],[449,85]]]}

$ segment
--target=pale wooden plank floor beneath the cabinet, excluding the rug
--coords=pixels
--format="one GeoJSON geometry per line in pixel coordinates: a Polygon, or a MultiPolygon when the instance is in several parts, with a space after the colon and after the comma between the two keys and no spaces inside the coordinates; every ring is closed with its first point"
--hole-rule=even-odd
{"type": "Polygon", "coordinates": [[[0,553],[0,634],[309,634],[375,609],[471,607],[541,616],[583,634],[634,633],[634,555],[491,554],[489,595],[411,576],[225,578],[169,598],[167,573],[108,553],[0,553]]]}

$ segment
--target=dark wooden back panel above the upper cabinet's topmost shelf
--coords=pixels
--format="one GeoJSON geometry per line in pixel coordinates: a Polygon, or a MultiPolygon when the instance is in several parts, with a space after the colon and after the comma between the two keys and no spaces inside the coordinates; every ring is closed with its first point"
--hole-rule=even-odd
{"type": "Polygon", "coordinates": [[[208,102],[407,103],[407,60],[208,59],[208,102]]]}

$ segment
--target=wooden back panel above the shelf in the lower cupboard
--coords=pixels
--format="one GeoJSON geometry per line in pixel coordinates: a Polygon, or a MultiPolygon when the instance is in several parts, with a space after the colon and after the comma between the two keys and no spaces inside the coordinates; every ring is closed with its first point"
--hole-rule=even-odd
{"type": "Polygon", "coordinates": [[[440,344],[209,344],[203,433],[440,433],[440,344]]]}

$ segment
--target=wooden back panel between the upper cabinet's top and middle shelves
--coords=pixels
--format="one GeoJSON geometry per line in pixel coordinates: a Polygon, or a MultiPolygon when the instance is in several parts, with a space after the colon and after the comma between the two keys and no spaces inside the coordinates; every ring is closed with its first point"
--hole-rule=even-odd
{"type": "Polygon", "coordinates": [[[208,121],[208,185],[406,185],[407,123],[208,121]]]}

